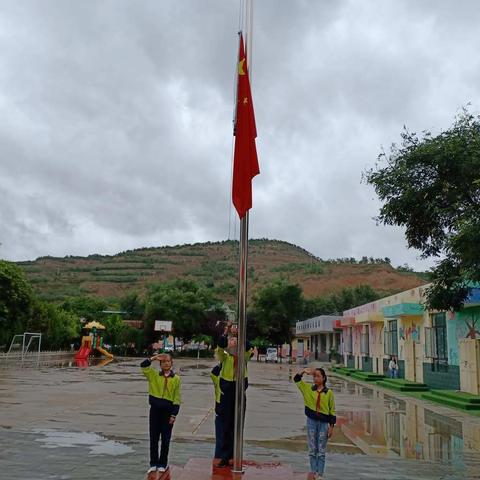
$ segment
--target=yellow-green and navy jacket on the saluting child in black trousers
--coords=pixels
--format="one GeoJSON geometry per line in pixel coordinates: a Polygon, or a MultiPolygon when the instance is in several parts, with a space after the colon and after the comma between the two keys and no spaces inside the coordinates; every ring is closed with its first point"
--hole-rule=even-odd
{"type": "Polygon", "coordinates": [[[173,370],[165,376],[162,371],[152,368],[150,360],[144,360],[142,373],[148,380],[148,401],[151,406],[169,410],[170,415],[177,415],[180,410],[181,382],[173,370]]]}

